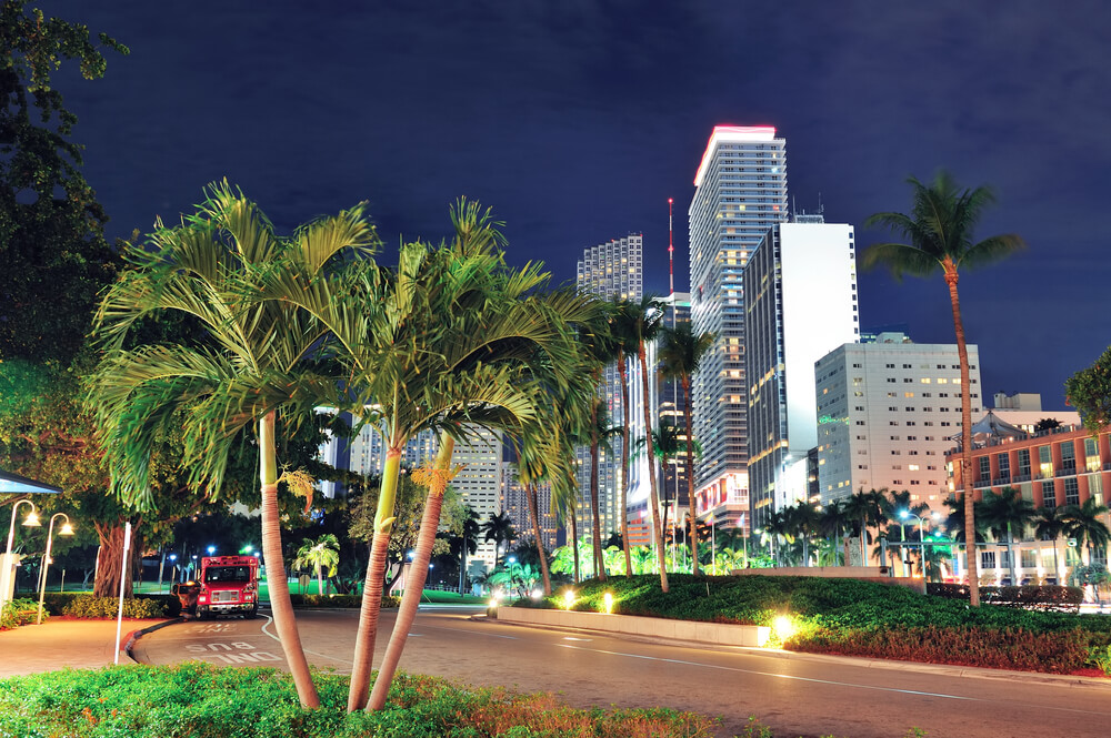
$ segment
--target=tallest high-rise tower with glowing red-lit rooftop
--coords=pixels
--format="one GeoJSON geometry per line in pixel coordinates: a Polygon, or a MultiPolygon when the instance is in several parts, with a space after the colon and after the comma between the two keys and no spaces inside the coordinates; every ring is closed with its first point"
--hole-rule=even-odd
{"type": "Polygon", "coordinates": [[[770,127],[719,125],[694,188],[691,324],[717,336],[694,378],[694,437],[702,445],[695,507],[702,519],[735,525],[749,508],[741,275],[768,230],[787,220],[787,142],[770,127]]]}

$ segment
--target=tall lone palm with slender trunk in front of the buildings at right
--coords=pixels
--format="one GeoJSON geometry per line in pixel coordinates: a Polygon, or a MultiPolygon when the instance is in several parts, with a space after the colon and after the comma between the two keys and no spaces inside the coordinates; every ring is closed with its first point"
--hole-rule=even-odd
{"type": "MultiPolygon", "coordinates": [[[[961,190],[953,178],[941,171],[933,183],[922,184],[913,176],[908,180],[912,192],[910,214],[875,213],[864,221],[865,228],[882,225],[905,236],[910,243],[881,243],[868,249],[861,257],[864,269],[885,264],[895,279],[903,274],[930,276],[941,272],[949,287],[949,302],[957,333],[957,354],[961,365],[961,479],[964,483],[965,539],[975,537],[975,512],[972,503],[972,386],[969,382],[969,356],[961,321],[961,303],[957,282],[961,267],[972,269],[1024,249],[1025,243],[1013,233],[993,235],[974,242],[972,232],[984,209],[994,201],[985,186],[961,190]]],[[[972,607],[980,606],[980,582],[974,552],[968,557],[969,594],[972,607]]]]}

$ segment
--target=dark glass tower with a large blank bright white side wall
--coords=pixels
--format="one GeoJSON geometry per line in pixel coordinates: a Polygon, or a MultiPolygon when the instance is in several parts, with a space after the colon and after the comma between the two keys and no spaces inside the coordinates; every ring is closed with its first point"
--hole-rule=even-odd
{"type": "Polygon", "coordinates": [[[860,334],[851,225],[777,223],[744,267],[752,525],[810,497],[818,445],[814,362],[860,334]]]}

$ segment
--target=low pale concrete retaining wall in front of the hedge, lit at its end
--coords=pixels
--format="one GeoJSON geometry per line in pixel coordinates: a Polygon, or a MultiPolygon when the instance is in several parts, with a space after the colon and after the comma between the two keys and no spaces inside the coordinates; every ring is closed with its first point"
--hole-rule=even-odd
{"type": "Polygon", "coordinates": [[[499,607],[497,617],[503,623],[521,625],[582,628],[602,633],[671,638],[718,646],[759,647],[768,643],[771,629],[755,625],[670,620],[632,615],[603,615],[571,610],[544,610],[528,607],[499,607]]]}

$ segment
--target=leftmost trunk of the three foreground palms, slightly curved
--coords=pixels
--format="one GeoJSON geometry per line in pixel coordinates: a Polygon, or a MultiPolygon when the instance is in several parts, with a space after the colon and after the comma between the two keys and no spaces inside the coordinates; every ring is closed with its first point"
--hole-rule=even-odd
{"type": "Polygon", "coordinates": [[[267,565],[267,587],[274,627],[289,664],[301,707],[317,709],[320,696],[312,684],[309,661],[304,658],[301,636],[289,598],[289,579],[281,550],[281,524],[278,516],[278,461],[274,453],[274,412],[259,421],[259,481],[262,483],[262,559],[267,565]]]}

